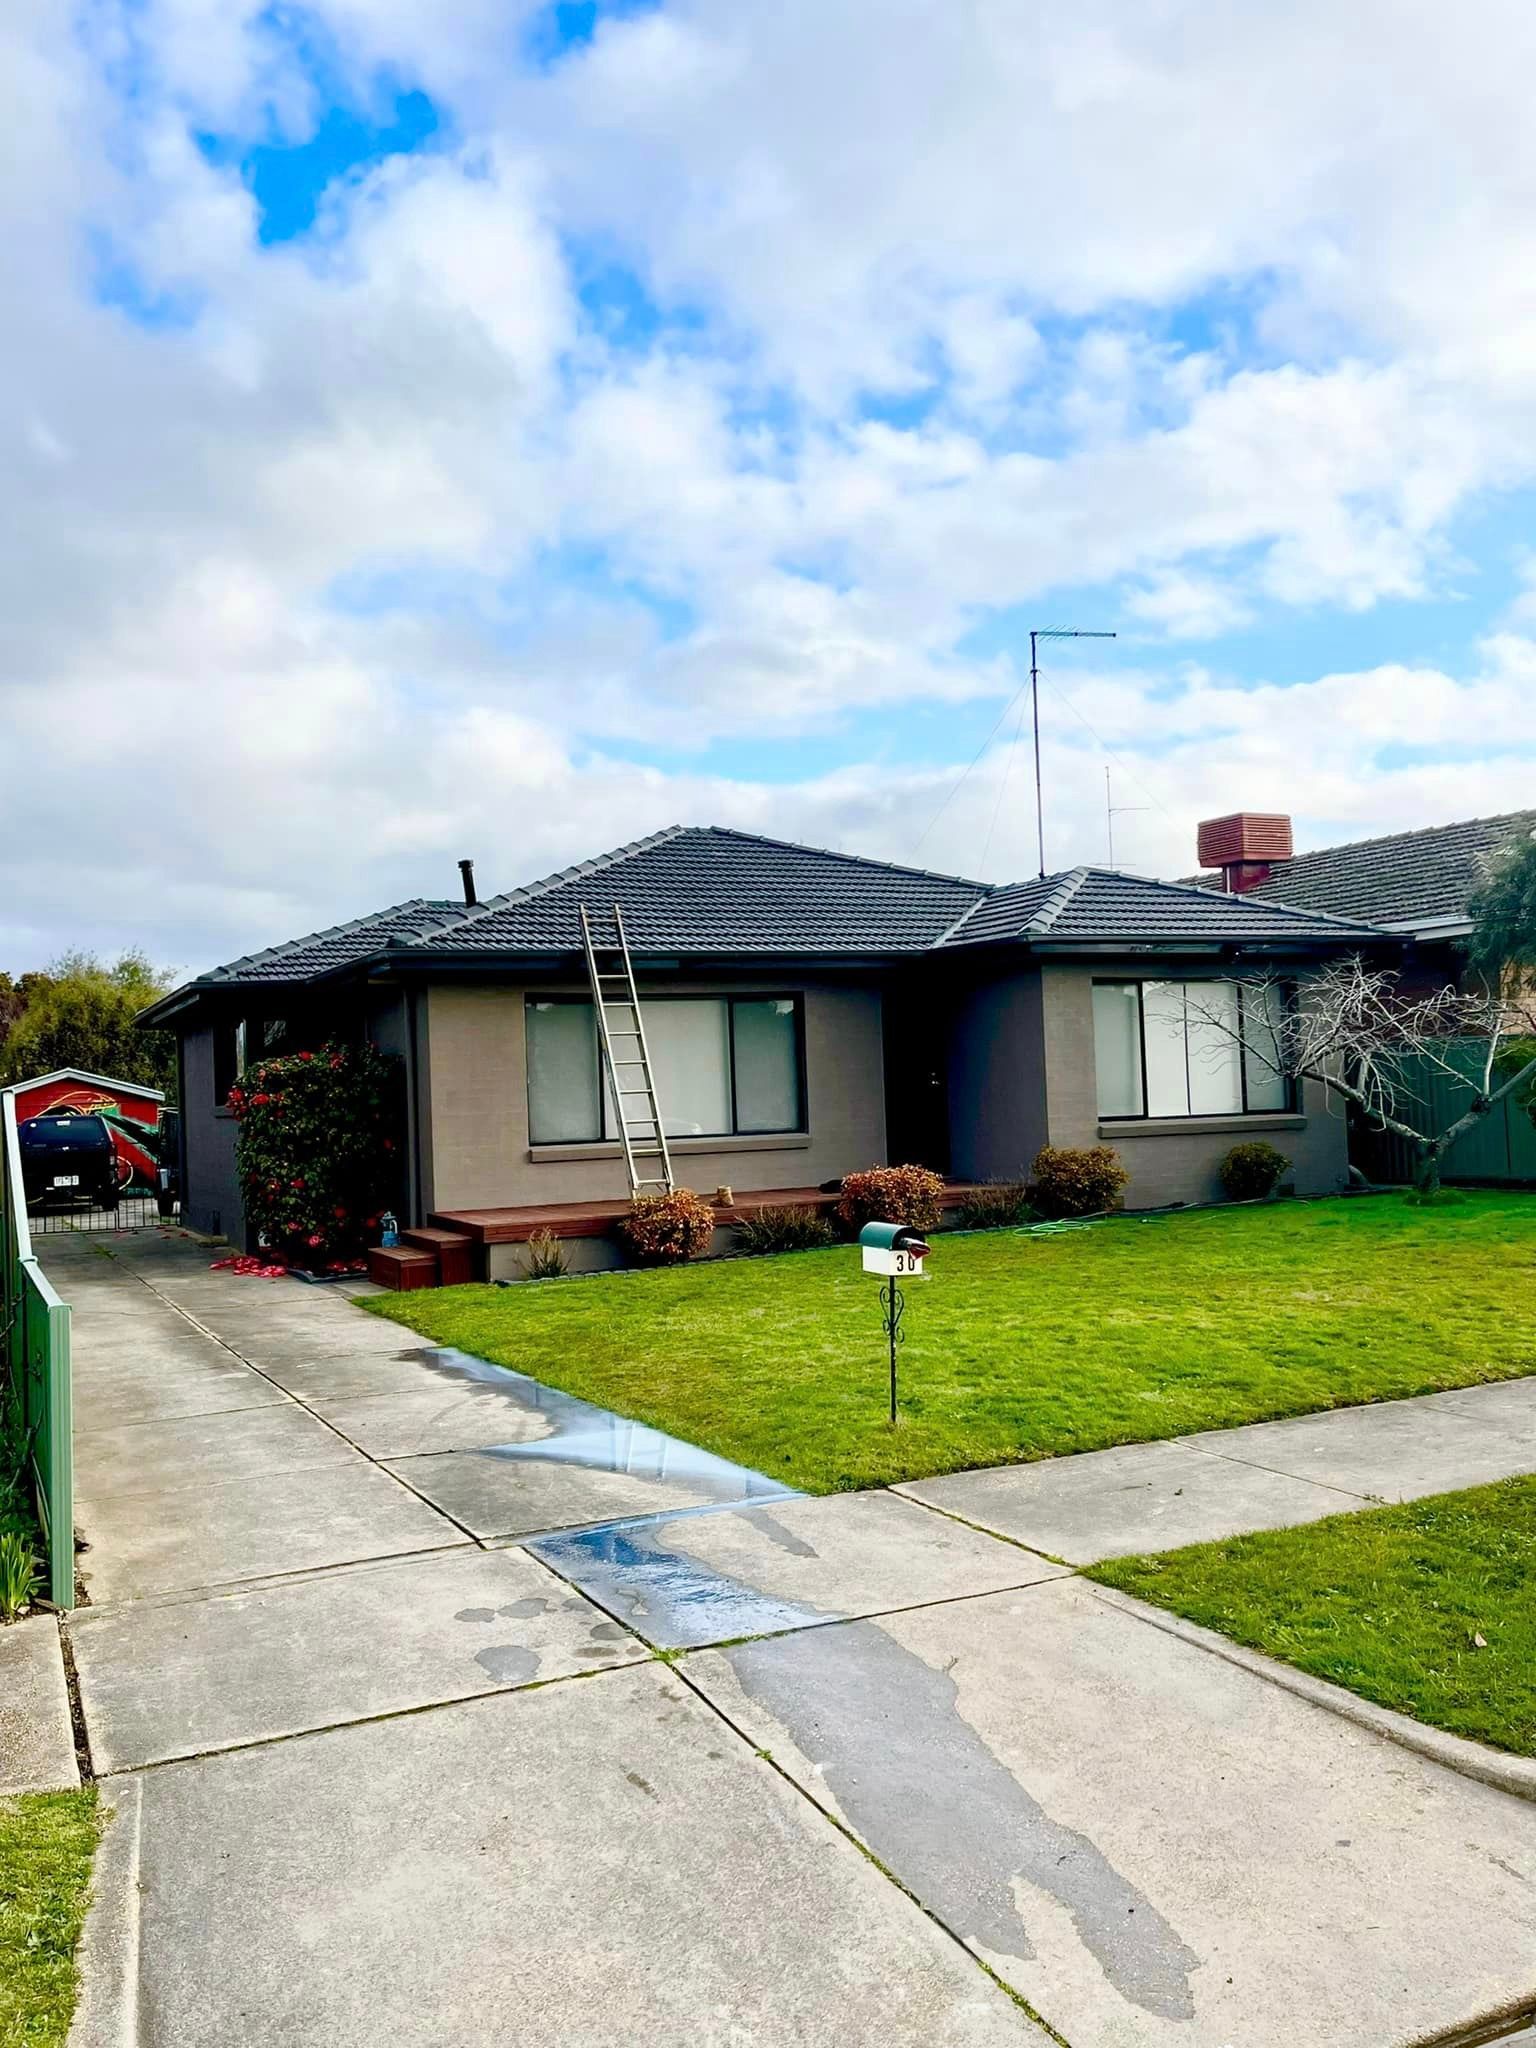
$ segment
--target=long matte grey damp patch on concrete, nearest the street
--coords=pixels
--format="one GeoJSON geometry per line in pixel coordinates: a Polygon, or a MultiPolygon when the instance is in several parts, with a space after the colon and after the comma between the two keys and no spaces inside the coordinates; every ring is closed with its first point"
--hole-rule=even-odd
{"type": "Polygon", "coordinates": [[[1034,1958],[1014,1884],[1057,1898],[1114,1989],[1192,2019],[1200,1958],[1077,1829],[1053,1821],[958,1710],[954,1679],[877,1622],[721,1653],[848,1823],[965,1942],[1034,1958]]]}

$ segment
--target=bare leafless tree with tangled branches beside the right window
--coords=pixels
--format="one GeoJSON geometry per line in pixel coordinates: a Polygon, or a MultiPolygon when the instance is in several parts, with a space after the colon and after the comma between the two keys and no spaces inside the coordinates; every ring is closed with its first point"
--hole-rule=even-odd
{"type": "Polygon", "coordinates": [[[1532,1085],[1530,1069],[1501,1067],[1501,1055],[1516,1040],[1536,1034],[1536,991],[1530,985],[1505,995],[1452,987],[1415,995],[1401,991],[1395,973],[1366,967],[1360,958],[1319,969],[1298,993],[1274,973],[1237,975],[1233,981],[1251,993],[1237,1004],[1190,1001],[1212,1053],[1221,1055],[1221,1040],[1237,1040],[1243,1057],[1260,1069],[1292,1081],[1321,1081],[1376,1130],[1391,1130],[1413,1147],[1413,1182],[1421,1194],[1440,1190],[1442,1161],[1458,1139],[1505,1096],[1532,1085]],[[1444,1128],[1421,1128],[1425,1071],[1440,1071],[1464,1087],[1468,1040],[1479,1049],[1473,1100],[1444,1128]]]}

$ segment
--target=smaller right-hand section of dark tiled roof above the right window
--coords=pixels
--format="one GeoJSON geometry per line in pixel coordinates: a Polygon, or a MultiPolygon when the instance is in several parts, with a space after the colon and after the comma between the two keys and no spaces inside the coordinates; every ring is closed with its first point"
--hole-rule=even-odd
{"type": "Polygon", "coordinates": [[[1233,897],[1190,883],[1120,874],[1114,868],[1069,868],[1065,874],[997,889],[946,934],[944,946],[1030,940],[1157,944],[1182,938],[1204,944],[1348,944],[1380,938],[1380,932],[1319,911],[1255,903],[1251,895],[1233,897]]]}

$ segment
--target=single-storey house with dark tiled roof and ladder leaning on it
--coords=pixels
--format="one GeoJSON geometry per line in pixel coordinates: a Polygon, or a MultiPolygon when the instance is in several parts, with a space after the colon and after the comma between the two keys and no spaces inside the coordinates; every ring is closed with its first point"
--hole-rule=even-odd
{"type": "Polygon", "coordinates": [[[395,903],[199,977],[145,1012],[180,1044],[184,1214],[240,1239],[229,1085],[244,1061],[367,1034],[401,1055],[399,1206],[485,1270],[541,1225],[608,1264],[629,1174],[604,1090],[582,907],[623,909],[674,1176],[815,1198],[879,1161],[1018,1178],[1040,1145],[1112,1143],[1128,1202],[1217,1194],[1243,1137],[1298,1192],[1346,1178],[1341,1118],[1212,1036],[1190,985],[1294,975],[1399,940],[1262,895],[1073,868],[989,887],[721,827],[657,831],[479,901],[395,903]]]}

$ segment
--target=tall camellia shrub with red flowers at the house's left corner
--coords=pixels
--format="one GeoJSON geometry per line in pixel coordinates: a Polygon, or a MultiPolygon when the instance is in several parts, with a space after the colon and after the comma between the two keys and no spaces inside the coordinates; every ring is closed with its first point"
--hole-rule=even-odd
{"type": "Polygon", "coordinates": [[[360,1264],[399,1190],[399,1061],[373,1044],[264,1059],[229,1108],[246,1221],[268,1257],[307,1272],[360,1264]]]}

